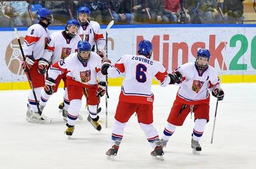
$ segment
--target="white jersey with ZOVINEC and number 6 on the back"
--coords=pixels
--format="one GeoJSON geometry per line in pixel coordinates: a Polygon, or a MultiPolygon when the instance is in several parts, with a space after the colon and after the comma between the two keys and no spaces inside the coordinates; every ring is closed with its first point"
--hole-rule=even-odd
{"type": "Polygon", "coordinates": [[[119,77],[124,74],[120,101],[152,104],[154,95],[151,92],[152,79],[156,77],[161,86],[170,82],[168,73],[158,61],[151,60],[145,56],[124,55],[114,66],[107,69],[110,77],[119,77]]]}

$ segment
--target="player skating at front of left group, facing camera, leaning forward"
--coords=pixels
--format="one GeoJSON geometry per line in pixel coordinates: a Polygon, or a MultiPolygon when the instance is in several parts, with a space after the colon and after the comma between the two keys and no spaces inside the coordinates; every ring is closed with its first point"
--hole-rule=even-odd
{"type": "Polygon", "coordinates": [[[59,74],[67,72],[67,93],[70,106],[67,113],[67,136],[72,136],[75,130],[75,121],[82,104],[82,95],[87,94],[89,116],[87,120],[96,130],[101,130],[97,115],[98,97],[106,92],[105,76],[101,74],[101,58],[91,52],[91,45],[87,41],[77,44],[77,53],[72,53],[52,65],[46,78],[46,89],[52,92],[59,74]],[[99,79],[99,83],[97,82],[99,79]]]}

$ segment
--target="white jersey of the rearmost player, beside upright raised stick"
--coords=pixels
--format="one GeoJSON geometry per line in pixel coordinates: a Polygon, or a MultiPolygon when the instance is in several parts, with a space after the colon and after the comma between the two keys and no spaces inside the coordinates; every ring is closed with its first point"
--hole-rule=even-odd
{"type": "Polygon", "coordinates": [[[104,50],[106,42],[101,32],[100,24],[98,22],[90,21],[90,24],[88,24],[88,26],[80,26],[79,34],[82,39],[83,36],[85,36],[85,41],[89,42],[91,46],[93,46],[96,41],[98,49],[104,50]]]}

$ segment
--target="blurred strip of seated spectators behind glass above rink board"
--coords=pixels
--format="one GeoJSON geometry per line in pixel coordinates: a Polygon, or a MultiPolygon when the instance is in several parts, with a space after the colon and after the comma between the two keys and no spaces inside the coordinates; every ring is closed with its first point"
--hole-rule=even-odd
{"type": "Polygon", "coordinates": [[[52,25],[65,25],[77,18],[77,9],[87,6],[90,19],[107,24],[161,23],[256,23],[253,0],[115,0],[115,1],[0,1],[0,27],[37,23],[40,7],[51,10],[52,25]]]}

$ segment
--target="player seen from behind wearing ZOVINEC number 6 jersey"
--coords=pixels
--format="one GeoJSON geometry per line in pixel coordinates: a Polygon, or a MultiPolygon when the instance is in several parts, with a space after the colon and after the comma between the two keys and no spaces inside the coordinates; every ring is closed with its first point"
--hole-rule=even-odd
{"type": "Polygon", "coordinates": [[[114,66],[105,62],[102,65],[102,74],[110,77],[119,77],[124,74],[119,103],[116,108],[114,127],[112,131],[112,147],[106,152],[107,157],[114,158],[119,150],[124,128],[129,118],[137,113],[141,129],[144,131],[147,141],[153,148],[152,156],[163,160],[163,149],[160,145],[159,136],[152,125],[154,95],[151,92],[152,79],[159,80],[160,86],[173,84],[179,78],[176,74],[168,74],[163,64],[151,60],[152,44],[143,40],[139,43],[139,56],[126,54],[117,61],[114,66]]]}

